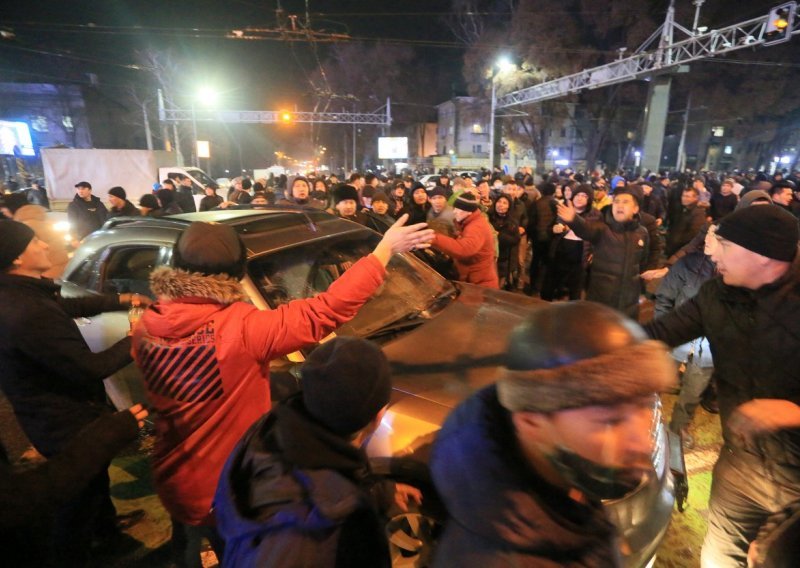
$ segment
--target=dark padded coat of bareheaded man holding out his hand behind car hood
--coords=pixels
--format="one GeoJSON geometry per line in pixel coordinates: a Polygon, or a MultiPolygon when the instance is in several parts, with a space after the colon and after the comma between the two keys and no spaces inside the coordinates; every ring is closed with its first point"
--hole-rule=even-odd
{"type": "Polygon", "coordinates": [[[650,237],[638,216],[633,221],[617,223],[607,210],[605,221],[587,223],[577,215],[569,226],[594,246],[586,299],[637,319],[642,288],[639,274],[650,250],[650,237]]]}

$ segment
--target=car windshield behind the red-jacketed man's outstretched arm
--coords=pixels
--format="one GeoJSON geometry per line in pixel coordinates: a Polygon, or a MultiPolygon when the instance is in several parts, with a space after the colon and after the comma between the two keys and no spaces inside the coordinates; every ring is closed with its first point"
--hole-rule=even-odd
{"type": "MultiPolygon", "coordinates": [[[[379,235],[356,233],[312,241],[254,258],[248,272],[275,308],[326,291],[379,240],[379,235]]],[[[340,333],[377,337],[389,329],[413,326],[435,315],[456,294],[450,282],[411,254],[394,255],[387,273],[372,299],[339,328],[340,333]]]]}

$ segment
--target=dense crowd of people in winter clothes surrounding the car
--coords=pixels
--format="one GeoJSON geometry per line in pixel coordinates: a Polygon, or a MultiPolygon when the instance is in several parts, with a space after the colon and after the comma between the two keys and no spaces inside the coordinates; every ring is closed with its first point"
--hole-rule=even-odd
{"type": "MultiPolygon", "coordinates": [[[[777,565],[800,509],[798,182],[800,172],[537,179],[522,169],[444,173],[429,186],[359,173],[241,178],[224,197],[207,186],[200,211],[305,206],[383,234],[326,292],[272,311],[245,301],[235,231],[202,222],[153,272],[152,301],[63,298],[52,280],[63,238],[46,233],[40,205],[7,198],[0,541],[42,543],[19,565],[83,566],[93,542],[137,521],[116,514],[107,466],[147,411],[110,414],[102,391],[133,362],[155,410],[153,481],[177,565],[198,566],[207,539],[227,566],[387,566],[381,518],[423,496],[374,476],[364,453],[390,403],[385,356],[362,340],[324,343],[302,392],[274,406],[269,361],[348,321],[391,256],[416,251],[453,279],[552,302],[514,329],[497,383],[438,435],[430,466],[450,521],[436,565],[617,565],[601,501],[651,468],[652,395],[676,369],[670,428],[690,444],[711,388],[722,422],[703,566],[777,565]],[[642,328],[648,281],[660,282],[656,318],[642,328]],[[133,303],[148,309],[131,335],[93,353],[72,318],[133,303]],[[18,516],[25,502],[38,510],[18,516]]],[[[108,190],[109,207],[89,182],[75,188],[75,242],[108,217],[196,209],[188,178],[165,180],[138,208],[122,187],[108,190]]]]}

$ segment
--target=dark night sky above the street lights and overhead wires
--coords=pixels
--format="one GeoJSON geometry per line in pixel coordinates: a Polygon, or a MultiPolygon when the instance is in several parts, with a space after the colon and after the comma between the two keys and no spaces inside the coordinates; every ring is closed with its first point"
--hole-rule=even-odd
{"type": "MultiPolygon", "coordinates": [[[[281,4],[287,14],[305,17],[302,0],[281,4]]],[[[13,66],[31,73],[27,80],[46,81],[36,76],[41,72],[37,55],[70,53],[74,58],[64,58],[65,64],[125,83],[140,73],[126,68],[136,62],[136,50],[170,48],[190,62],[184,69],[189,77],[224,88],[234,107],[268,108],[304,97],[310,103],[306,74],[317,68],[317,56],[324,61],[325,44],[317,44],[315,55],[307,43],[224,38],[234,29],[275,28],[276,6],[275,0],[7,2],[0,26],[11,29],[15,38],[0,42],[0,73],[13,66]]],[[[439,81],[458,85],[462,80],[462,49],[441,21],[450,10],[449,0],[310,0],[309,6],[314,30],[348,33],[368,43],[413,45],[439,81]],[[450,46],[417,43],[431,38],[450,46]]]]}

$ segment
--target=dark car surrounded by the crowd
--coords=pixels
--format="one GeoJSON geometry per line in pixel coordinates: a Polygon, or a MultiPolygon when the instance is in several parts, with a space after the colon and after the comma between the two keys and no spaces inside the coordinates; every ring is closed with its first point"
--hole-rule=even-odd
{"type": "MultiPolygon", "coordinates": [[[[380,235],[317,210],[228,210],[162,219],[109,221],[76,251],[64,274],[65,296],[103,292],[150,294],[148,276],[169,264],[176,239],[191,221],[226,223],[248,250],[243,286],[260,309],[325,291],[349,266],[368,254],[380,235]]],[[[506,338],[526,313],[543,305],[523,295],[450,282],[413,254],[395,255],[388,276],[358,315],[337,331],[381,344],[393,369],[393,396],[368,447],[380,473],[430,490],[426,472],[431,443],[445,417],[475,390],[491,384],[502,363],[506,338]]],[[[102,349],[128,329],[124,313],[82,319],[90,346],[102,349]]],[[[310,350],[310,348],[309,348],[310,350]]],[[[299,388],[298,367],[308,350],[272,362],[272,390],[280,400],[299,388]]],[[[131,365],[107,380],[118,408],[144,400],[131,365]]],[[[644,566],[666,531],[674,503],[667,434],[656,408],[656,475],[626,498],[607,503],[619,526],[626,564],[644,566]]],[[[678,446],[679,447],[679,446],[678,446]]],[[[415,515],[392,519],[397,562],[424,565],[442,511],[435,495],[415,515]]]]}

